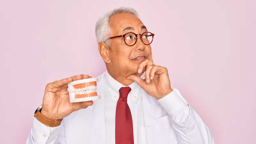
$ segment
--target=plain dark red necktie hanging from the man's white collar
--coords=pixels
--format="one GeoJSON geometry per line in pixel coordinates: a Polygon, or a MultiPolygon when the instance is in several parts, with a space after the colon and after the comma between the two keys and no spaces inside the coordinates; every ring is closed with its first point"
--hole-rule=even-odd
{"type": "Polygon", "coordinates": [[[116,144],[134,144],[132,114],[127,104],[130,87],[121,87],[116,105],[116,144]]]}

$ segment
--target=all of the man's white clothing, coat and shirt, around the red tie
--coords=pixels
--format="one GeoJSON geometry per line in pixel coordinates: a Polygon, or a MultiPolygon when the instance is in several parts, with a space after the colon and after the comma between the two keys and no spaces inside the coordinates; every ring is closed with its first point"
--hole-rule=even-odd
{"type": "MultiPolygon", "coordinates": [[[[100,100],[65,117],[57,127],[47,127],[34,117],[26,144],[115,144],[116,104],[124,85],[107,71],[98,79],[100,100]]],[[[134,144],[214,144],[207,126],[177,89],[156,100],[135,82],[129,87],[134,144]]]]}

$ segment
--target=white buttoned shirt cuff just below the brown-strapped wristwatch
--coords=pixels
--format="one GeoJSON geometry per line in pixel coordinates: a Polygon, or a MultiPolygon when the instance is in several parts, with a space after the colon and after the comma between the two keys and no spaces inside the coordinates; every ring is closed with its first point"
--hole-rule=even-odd
{"type": "Polygon", "coordinates": [[[33,126],[31,129],[32,139],[34,143],[46,143],[52,141],[57,137],[57,133],[60,126],[48,127],[42,124],[40,121],[34,117],[33,126]]]}

